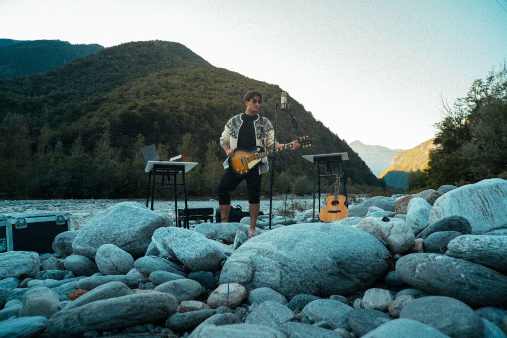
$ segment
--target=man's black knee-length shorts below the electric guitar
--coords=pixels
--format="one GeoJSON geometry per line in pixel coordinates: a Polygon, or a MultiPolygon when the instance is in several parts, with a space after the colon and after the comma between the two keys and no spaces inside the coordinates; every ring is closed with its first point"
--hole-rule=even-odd
{"type": "Polygon", "coordinates": [[[259,174],[259,168],[256,166],[245,176],[238,177],[234,174],[231,167],[228,167],[222,175],[218,187],[219,204],[227,205],[231,204],[231,191],[237,188],[237,186],[246,180],[246,188],[248,189],[248,202],[251,204],[257,204],[261,201],[261,184],[262,176],[259,174]]]}

